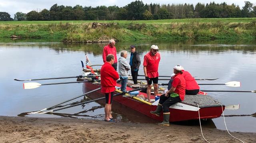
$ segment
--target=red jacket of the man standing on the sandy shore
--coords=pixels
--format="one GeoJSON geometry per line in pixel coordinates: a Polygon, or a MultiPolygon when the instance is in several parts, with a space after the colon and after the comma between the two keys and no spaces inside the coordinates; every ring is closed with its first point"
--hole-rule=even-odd
{"type": "Polygon", "coordinates": [[[100,69],[101,92],[110,93],[116,90],[116,80],[119,78],[118,72],[108,62],[104,63],[100,69]]]}

